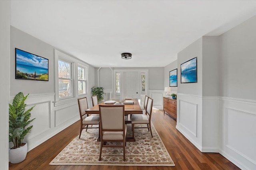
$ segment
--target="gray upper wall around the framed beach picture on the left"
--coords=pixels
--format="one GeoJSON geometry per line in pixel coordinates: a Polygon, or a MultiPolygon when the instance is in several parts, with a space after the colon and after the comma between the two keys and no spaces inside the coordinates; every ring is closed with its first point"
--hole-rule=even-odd
{"type": "Polygon", "coordinates": [[[10,96],[24,94],[54,93],[54,48],[43,41],[10,26],[10,96]],[[15,79],[15,48],[48,59],[49,81],[15,79]]]}

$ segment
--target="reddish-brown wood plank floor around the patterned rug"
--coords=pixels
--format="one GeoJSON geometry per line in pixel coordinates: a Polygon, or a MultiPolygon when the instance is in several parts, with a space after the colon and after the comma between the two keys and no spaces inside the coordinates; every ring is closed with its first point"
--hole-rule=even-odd
{"type": "Polygon", "coordinates": [[[161,110],[153,110],[152,123],[175,166],[50,166],[54,157],[78,134],[76,122],[38,147],[30,150],[19,164],[9,163],[10,170],[240,170],[218,153],[202,153],[176,128],[176,121],[161,110]]]}

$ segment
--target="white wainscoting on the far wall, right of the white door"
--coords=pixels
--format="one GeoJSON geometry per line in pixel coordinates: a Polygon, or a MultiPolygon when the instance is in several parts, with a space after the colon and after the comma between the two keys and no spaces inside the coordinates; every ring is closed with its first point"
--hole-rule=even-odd
{"type": "Polygon", "coordinates": [[[153,107],[162,110],[164,90],[148,90],[148,93],[148,96],[153,99],[153,107]]]}

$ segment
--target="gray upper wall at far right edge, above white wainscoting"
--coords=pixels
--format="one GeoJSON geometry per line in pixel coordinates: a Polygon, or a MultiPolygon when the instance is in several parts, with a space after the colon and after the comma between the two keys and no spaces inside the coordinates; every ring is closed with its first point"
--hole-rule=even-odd
{"type": "Polygon", "coordinates": [[[256,100],[256,16],[220,36],[220,96],[256,100]]]}

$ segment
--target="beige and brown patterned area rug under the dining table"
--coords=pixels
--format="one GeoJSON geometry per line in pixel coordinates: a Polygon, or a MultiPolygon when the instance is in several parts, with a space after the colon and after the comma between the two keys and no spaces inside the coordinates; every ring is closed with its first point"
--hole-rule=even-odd
{"type": "MultiPolygon", "coordinates": [[[[103,148],[99,161],[98,129],[88,129],[87,132],[83,130],[81,138],[78,139],[78,135],[73,139],[50,165],[175,166],[153,125],[152,133],[153,138],[148,129],[135,129],[136,142],[126,142],[125,161],[122,148],[103,148]]],[[[127,137],[129,136],[132,136],[131,124],[128,124],[127,137]]]]}

